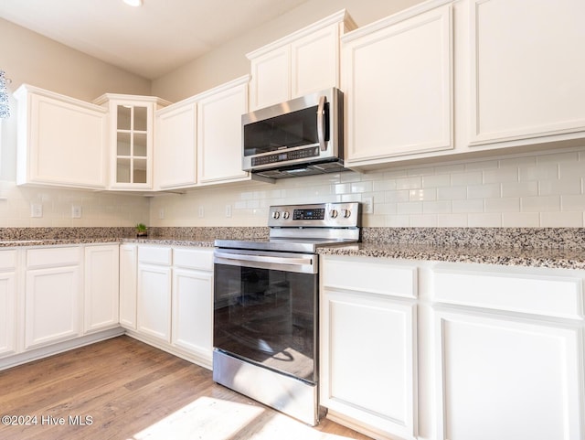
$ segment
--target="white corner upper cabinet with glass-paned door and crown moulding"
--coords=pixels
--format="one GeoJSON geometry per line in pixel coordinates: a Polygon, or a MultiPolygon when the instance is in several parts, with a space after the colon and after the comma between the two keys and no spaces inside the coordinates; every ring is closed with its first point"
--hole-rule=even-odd
{"type": "Polygon", "coordinates": [[[110,111],[110,188],[152,189],[154,111],[169,102],[153,96],[112,93],[95,102],[110,111]]]}

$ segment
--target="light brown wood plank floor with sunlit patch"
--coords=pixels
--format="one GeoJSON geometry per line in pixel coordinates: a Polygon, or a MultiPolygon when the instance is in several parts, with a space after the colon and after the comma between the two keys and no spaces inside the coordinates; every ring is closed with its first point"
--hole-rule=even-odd
{"type": "Polygon", "coordinates": [[[3,440],[369,439],[328,420],[296,422],[128,337],[0,371],[0,416],[21,416],[3,418],[3,440]]]}

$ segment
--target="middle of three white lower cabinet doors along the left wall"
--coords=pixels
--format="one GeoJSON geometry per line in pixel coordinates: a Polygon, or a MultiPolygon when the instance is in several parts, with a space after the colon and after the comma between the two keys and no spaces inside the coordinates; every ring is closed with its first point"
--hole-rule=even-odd
{"type": "Polygon", "coordinates": [[[25,348],[80,334],[80,267],[27,272],[25,348]]]}

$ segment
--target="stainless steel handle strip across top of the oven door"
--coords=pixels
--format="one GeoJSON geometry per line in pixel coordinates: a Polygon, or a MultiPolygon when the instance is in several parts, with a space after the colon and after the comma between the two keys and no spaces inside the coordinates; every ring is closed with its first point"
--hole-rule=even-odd
{"type": "Polygon", "coordinates": [[[314,255],[297,258],[249,255],[216,251],[214,261],[215,263],[225,263],[236,266],[263,267],[266,269],[276,269],[285,272],[289,271],[316,274],[316,262],[314,255]]]}

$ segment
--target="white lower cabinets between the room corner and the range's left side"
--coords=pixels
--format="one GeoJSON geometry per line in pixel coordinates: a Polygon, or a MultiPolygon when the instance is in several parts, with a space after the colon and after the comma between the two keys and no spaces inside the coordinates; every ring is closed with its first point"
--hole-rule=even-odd
{"type": "Polygon", "coordinates": [[[122,245],[122,326],[130,336],[211,368],[213,248],[122,245]],[[137,250],[137,260],[133,252],[137,250]],[[134,273],[132,263],[137,261],[134,273]],[[135,274],[136,284],[132,282],[135,274]],[[133,327],[133,288],[136,325],[133,327]],[[124,305],[124,306],[122,306],[124,305]]]}

